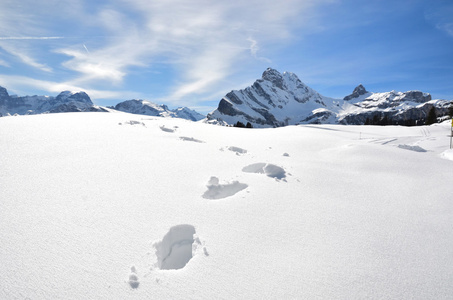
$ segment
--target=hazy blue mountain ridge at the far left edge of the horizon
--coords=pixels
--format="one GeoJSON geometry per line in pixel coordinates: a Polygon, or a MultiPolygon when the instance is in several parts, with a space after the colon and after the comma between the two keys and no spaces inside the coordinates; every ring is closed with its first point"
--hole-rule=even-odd
{"type": "Polygon", "coordinates": [[[34,115],[41,113],[106,111],[95,106],[85,92],[61,92],[52,96],[10,96],[4,87],[0,87],[0,116],[34,115]]]}

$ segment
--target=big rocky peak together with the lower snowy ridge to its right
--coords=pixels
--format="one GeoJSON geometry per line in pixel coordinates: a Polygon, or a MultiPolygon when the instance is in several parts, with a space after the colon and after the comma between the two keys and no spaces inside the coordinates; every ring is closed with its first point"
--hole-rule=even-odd
{"type": "Polygon", "coordinates": [[[325,97],[291,72],[268,68],[252,86],[231,91],[208,114],[210,123],[233,125],[250,122],[253,127],[297,124],[423,124],[434,107],[447,114],[452,101],[432,100],[420,91],[372,93],[360,84],[343,99],[325,97]]]}

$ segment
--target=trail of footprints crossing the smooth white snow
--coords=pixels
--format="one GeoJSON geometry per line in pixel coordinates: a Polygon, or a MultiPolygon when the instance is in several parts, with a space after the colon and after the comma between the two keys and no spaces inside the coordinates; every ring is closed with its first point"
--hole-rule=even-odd
{"type": "MultiPolygon", "coordinates": [[[[174,133],[177,129],[177,127],[167,128],[165,126],[160,126],[159,128],[168,133],[174,133]]],[[[204,143],[204,141],[193,137],[181,136],[179,139],[182,141],[204,143]]],[[[246,149],[236,146],[220,149],[220,151],[225,150],[234,152],[236,155],[248,153],[246,149]]],[[[289,154],[283,153],[283,156],[288,157],[289,154]]],[[[247,165],[242,168],[242,172],[264,174],[277,181],[286,181],[285,178],[287,176],[286,171],[282,167],[263,162],[247,165]]],[[[218,177],[211,176],[206,187],[207,190],[202,197],[209,200],[218,200],[231,197],[246,189],[248,185],[239,181],[221,183],[218,177]]],[[[179,270],[184,268],[195,255],[209,256],[204,242],[198,237],[195,227],[190,224],[180,224],[171,227],[163,236],[162,240],[154,242],[152,247],[155,250],[155,268],[158,270],[179,270]]],[[[159,281],[159,278],[156,278],[156,282],[159,283],[159,281]]],[[[139,287],[140,282],[135,266],[131,267],[127,282],[132,289],[137,289],[139,287]]]]}

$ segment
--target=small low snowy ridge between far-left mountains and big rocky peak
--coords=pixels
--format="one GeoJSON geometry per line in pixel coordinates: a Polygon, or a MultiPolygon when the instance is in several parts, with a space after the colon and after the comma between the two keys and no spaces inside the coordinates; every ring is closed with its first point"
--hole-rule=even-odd
{"type": "Polygon", "coordinates": [[[127,100],[118,103],[115,107],[116,110],[127,112],[131,114],[181,118],[191,121],[199,121],[205,118],[204,115],[191,110],[187,107],[179,107],[177,109],[169,109],[165,104],[159,105],[147,100],[127,100]]]}

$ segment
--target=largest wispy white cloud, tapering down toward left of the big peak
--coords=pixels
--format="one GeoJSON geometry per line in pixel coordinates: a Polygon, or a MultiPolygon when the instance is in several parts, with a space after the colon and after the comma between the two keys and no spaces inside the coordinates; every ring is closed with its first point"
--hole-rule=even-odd
{"type": "Polygon", "coordinates": [[[81,47],[57,52],[71,57],[63,65],[80,75],[74,79],[78,83],[121,84],[131,67],[163,59],[178,76],[162,101],[178,102],[215,89],[241,64],[270,63],[259,55],[261,47],[290,39],[292,26],[299,26],[301,16],[320,3],[252,2],[117,0],[124,9],[100,9],[91,18],[104,30],[104,45],[90,47],[89,53],[81,47]]]}

